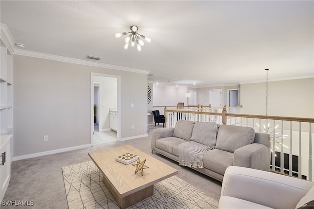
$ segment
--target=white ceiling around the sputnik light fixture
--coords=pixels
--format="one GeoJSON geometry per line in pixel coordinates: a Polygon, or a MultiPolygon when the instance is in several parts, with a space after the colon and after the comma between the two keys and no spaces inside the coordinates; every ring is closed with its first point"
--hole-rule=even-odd
{"type": "Polygon", "coordinates": [[[0,1],[24,50],[150,71],[167,85],[314,77],[314,1],[0,1]],[[123,49],[130,26],[152,39],[123,49]],[[170,82],[167,82],[170,80],[170,82]]]}

